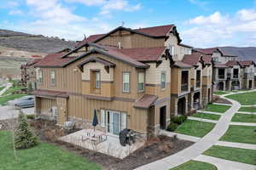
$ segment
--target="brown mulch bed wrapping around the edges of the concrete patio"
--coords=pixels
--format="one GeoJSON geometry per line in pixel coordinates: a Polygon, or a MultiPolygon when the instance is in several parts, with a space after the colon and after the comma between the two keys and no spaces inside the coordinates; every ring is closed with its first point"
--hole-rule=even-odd
{"type": "Polygon", "coordinates": [[[152,161],[160,160],[166,156],[171,156],[194,144],[190,141],[158,136],[150,139],[142,148],[121,160],[119,158],[108,156],[93,150],[87,150],[80,146],[69,144],[58,139],[61,136],[74,133],[80,129],[67,131],[56,126],[55,122],[44,120],[29,120],[29,122],[35,133],[38,135],[38,138],[45,143],[54,144],[55,146],[61,147],[63,150],[73,152],[77,156],[83,156],[89,161],[102,165],[102,168],[107,170],[131,170],[152,161]]]}

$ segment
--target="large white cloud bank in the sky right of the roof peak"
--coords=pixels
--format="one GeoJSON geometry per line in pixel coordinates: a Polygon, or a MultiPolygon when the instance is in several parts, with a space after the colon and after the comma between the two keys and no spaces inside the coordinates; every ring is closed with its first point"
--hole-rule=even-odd
{"type": "Polygon", "coordinates": [[[233,15],[217,11],[208,16],[197,16],[185,22],[188,28],[181,31],[181,36],[184,42],[201,48],[223,45],[255,46],[254,12],[254,9],[241,9],[233,15]]]}

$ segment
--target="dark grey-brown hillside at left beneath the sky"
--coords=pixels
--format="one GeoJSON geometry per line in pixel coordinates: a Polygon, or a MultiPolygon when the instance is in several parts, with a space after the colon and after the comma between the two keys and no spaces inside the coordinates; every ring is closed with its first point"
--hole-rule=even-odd
{"type": "Polygon", "coordinates": [[[73,48],[75,42],[58,37],[44,37],[18,31],[0,29],[0,46],[20,51],[51,54],[63,48],[73,48]]]}

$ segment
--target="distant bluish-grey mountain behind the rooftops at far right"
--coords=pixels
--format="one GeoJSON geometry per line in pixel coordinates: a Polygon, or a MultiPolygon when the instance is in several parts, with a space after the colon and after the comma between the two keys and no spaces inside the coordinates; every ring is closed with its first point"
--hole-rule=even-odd
{"type": "Polygon", "coordinates": [[[256,47],[220,47],[225,54],[236,55],[240,60],[253,60],[256,63],[256,47]]]}

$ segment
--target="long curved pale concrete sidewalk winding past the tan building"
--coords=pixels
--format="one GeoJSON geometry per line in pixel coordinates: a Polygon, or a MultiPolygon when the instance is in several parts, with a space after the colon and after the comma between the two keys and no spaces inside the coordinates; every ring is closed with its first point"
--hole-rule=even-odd
{"type": "MultiPolygon", "coordinates": [[[[224,98],[227,99],[227,98],[224,98]]],[[[230,109],[224,112],[223,116],[220,117],[218,123],[213,127],[210,133],[207,133],[201,140],[197,143],[191,145],[189,148],[181,150],[172,156],[168,156],[159,161],[154,161],[142,167],[137,167],[137,170],[167,170],[172,167],[177,167],[186,161],[195,159],[200,156],[204,151],[212,147],[212,145],[218,142],[224,133],[228,130],[232,116],[235,115],[241,107],[240,103],[233,99],[228,99],[232,103],[230,109]]]]}

